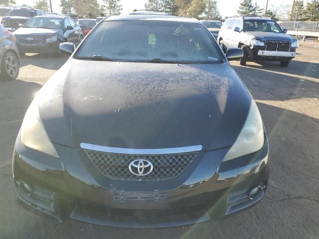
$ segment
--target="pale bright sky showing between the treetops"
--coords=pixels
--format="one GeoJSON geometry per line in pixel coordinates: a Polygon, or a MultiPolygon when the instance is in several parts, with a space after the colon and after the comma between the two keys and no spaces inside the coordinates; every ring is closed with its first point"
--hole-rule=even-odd
{"type": "MultiPolygon", "coordinates": [[[[35,0],[15,0],[16,4],[28,4],[33,6],[35,0]]],[[[61,9],[59,7],[60,0],[51,0],[52,8],[54,12],[60,12],[61,9]]],[[[241,0],[217,0],[217,6],[222,16],[232,16],[236,14],[236,10],[239,6],[241,0]]],[[[305,4],[308,0],[304,0],[305,4]]],[[[123,14],[128,14],[133,9],[144,9],[144,4],[147,0],[121,0],[121,4],[123,7],[123,14]]],[[[257,2],[262,8],[265,8],[267,0],[253,0],[253,2],[257,2]]],[[[268,5],[276,5],[276,4],[292,4],[293,0],[269,0],[268,5]]]]}

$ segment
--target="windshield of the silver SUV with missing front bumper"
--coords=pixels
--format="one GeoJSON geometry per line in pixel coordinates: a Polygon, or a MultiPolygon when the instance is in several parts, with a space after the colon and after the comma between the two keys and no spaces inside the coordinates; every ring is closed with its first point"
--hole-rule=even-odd
{"type": "Polygon", "coordinates": [[[244,31],[283,32],[275,21],[267,20],[245,20],[244,31]]]}

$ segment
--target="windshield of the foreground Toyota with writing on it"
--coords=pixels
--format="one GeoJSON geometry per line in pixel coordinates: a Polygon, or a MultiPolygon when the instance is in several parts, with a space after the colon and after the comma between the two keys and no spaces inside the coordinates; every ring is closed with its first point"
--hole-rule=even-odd
{"type": "Polygon", "coordinates": [[[221,63],[218,45],[201,24],[106,21],[83,42],[75,58],[105,56],[118,61],[221,63]]]}

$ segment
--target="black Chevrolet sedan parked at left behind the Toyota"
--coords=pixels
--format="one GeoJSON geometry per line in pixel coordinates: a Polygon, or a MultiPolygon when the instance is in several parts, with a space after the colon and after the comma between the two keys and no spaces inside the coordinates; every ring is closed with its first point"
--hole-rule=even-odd
{"type": "Polygon", "coordinates": [[[69,17],[35,16],[14,31],[20,53],[59,52],[62,42],[78,45],[83,34],[69,17]]]}

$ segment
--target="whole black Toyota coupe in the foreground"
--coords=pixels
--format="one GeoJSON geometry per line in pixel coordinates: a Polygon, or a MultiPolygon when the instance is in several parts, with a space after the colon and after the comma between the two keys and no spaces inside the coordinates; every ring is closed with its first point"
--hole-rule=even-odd
{"type": "Polygon", "coordinates": [[[255,100],[196,19],[102,20],[37,93],[13,155],[18,199],[58,220],[160,228],[256,205],[269,178],[255,100]]]}

